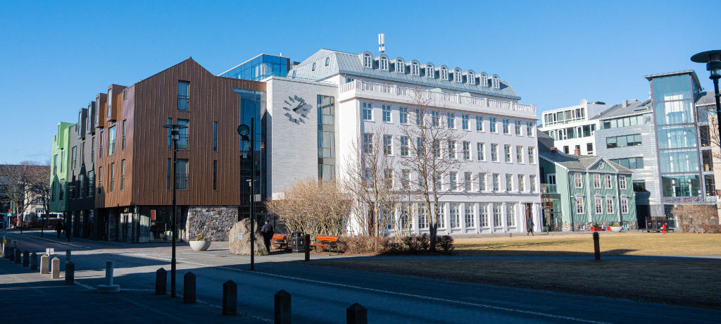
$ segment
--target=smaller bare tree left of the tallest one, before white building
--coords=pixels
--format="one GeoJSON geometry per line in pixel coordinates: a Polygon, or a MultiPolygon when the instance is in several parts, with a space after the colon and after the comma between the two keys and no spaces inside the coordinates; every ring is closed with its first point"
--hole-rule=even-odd
{"type": "Polygon", "coordinates": [[[379,236],[394,225],[399,193],[394,188],[393,136],[384,128],[361,133],[346,159],[343,188],[352,197],[359,235],[379,236]]]}

